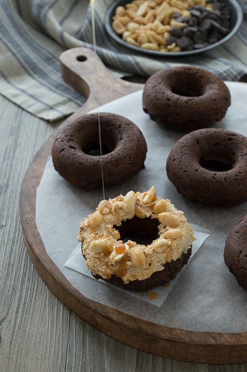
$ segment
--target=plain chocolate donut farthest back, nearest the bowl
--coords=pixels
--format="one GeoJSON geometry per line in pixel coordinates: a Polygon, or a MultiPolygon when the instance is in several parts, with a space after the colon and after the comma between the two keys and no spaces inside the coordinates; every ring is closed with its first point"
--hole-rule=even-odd
{"type": "Polygon", "coordinates": [[[179,66],[150,76],[143,110],[151,120],[175,130],[191,131],[220,121],[231,104],[229,89],[203,68],[179,66]]]}

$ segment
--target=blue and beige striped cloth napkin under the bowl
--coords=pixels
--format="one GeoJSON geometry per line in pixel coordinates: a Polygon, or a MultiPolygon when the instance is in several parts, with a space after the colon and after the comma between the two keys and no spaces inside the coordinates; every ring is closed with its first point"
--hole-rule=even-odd
{"type": "MultiPolygon", "coordinates": [[[[113,0],[95,0],[97,54],[122,74],[149,76],[176,58],[130,53],[107,36],[104,14],[113,0]]],[[[247,0],[239,0],[247,13],[247,0]]],[[[0,0],[0,93],[48,121],[73,113],[85,98],[60,74],[58,57],[74,47],[93,49],[89,0],[0,0]]],[[[224,80],[247,81],[247,18],[224,46],[179,59],[204,67],[224,80]]]]}

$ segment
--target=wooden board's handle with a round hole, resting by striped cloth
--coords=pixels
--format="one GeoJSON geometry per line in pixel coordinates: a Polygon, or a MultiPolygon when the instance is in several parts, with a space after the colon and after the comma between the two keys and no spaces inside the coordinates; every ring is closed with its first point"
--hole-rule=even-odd
{"type": "Polygon", "coordinates": [[[87,98],[88,111],[143,88],[142,84],[129,83],[110,73],[90,49],[72,48],[59,59],[63,79],[87,98]]]}

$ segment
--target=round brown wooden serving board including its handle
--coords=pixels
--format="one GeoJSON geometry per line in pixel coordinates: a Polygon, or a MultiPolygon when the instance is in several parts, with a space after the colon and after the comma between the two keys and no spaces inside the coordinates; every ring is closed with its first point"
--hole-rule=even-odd
{"type": "MultiPolygon", "coordinates": [[[[143,88],[141,84],[114,77],[88,49],[66,51],[60,56],[60,61],[65,81],[88,98],[83,107],[63,124],[68,123],[72,117],[143,88]]],[[[20,193],[20,218],[28,252],[50,291],[102,332],[149,353],[198,363],[247,362],[247,332],[195,332],[162,326],[89,300],[68,282],[48,256],[35,223],[36,188],[51,153],[55,134],[56,131],[30,164],[20,193]]]]}

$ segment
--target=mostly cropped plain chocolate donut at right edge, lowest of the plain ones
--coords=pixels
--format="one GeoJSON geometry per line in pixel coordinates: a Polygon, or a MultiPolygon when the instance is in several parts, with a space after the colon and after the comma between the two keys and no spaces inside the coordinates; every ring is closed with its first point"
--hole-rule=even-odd
{"type": "Polygon", "coordinates": [[[234,226],[228,235],[224,260],[239,285],[247,290],[247,215],[234,226]]]}

